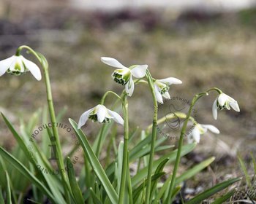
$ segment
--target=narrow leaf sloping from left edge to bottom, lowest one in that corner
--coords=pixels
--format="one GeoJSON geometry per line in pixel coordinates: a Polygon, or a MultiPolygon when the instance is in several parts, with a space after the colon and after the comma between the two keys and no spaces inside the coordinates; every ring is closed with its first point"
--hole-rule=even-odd
{"type": "Polygon", "coordinates": [[[28,178],[29,181],[31,181],[31,183],[35,184],[42,192],[44,192],[45,195],[47,195],[53,203],[58,203],[56,202],[55,197],[48,191],[48,189],[22,163],[16,160],[15,157],[12,156],[12,154],[1,148],[1,146],[0,154],[2,157],[4,157],[5,160],[7,160],[7,162],[10,162],[10,164],[14,168],[16,168],[20,173],[22,173],[23,176],[28,178]]]}

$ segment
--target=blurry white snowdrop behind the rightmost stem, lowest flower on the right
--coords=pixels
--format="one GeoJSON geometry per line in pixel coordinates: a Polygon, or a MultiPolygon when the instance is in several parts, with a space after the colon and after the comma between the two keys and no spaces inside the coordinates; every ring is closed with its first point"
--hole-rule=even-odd
{"type": "Polygon", "coordinates": [[[219,134],[219,130],[214,125],[203,125],[197,123],[197,125],[195,125],[194,129],[192,130],[192,133],[190,133],[187,137],[188,142],[192,143],[195,141],[196,143],[199,143],[200,135],[206,133],[207,130],[210,130],[212,133],[219,134]]]}

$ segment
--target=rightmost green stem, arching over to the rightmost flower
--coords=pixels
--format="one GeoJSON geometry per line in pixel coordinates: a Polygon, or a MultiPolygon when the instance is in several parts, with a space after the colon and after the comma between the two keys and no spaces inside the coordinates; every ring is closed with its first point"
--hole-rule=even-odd
{"type": "Polygon", "coordinates": [[[208,92],[210,92],[211,90],[215,90],[218,93],[222,93],[222,90],[219,90],[217,87],[211,88],[211,89],[207,90],[206,92],[199,93],[199,94],[195,95],[194,98],[192,99],[191,104],[190,104],[189,112],[188,112],[187,117],[186,117],[186,119],[184,121],[184,124],[182,126],[181,136],[180,136],[179,141],[178,141],[178,152],[177,152],[177,156],[176,156],[175,165],[174,165],[174,168],[173,168],[173,176],[172,176],[172,180],[170,182],[170,189],[169,189],[169,193],[168,193],[166,203],[171,203],[172,199],[173,199],[172,195],[173,195],[173,189],[174,189],[174,184],[175,184],[175,180],[176,180],[176,174],[177,174],[177,171],[178,171],[178,165],[181,161],[181,149],[182,149],[183,140],[184,140],[184,136],[185,136],[186,129],[187,129],[187,122],[189,121],[193,106],[195,106],[195,103],[197,102],[197,100],[199,98],[201,98],[203,95],[208,95],[208,92]]]}

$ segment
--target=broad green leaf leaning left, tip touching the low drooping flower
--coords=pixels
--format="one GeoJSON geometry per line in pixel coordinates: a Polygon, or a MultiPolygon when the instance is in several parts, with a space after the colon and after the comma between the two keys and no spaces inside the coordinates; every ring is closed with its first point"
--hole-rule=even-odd
{"type": "Polygon", "coordinates": [[[91,168],[94,169],[94,173],[96,173],[99,181],[102,182],[102,186],[104,187],[105,191],[108,194],[111,202],[113,204],[118,203],[118,196],[116,194],[115,189],[113,188],[112,184],[110,183],[108,176],[105,174],[102,165],[100,165],[99,160],[97,159],[96,155],[94,154],[89,141],[87,140],[86,136],[84,135],[82,130],[78,130],[78,125],[72,119],[69,119],[70,124],[72,125],[73,129],[75,130],[76,135],[80,141],[81,146],[83,147],[83,151],[86,154],[86,158],[88,158],[91,168]]]}

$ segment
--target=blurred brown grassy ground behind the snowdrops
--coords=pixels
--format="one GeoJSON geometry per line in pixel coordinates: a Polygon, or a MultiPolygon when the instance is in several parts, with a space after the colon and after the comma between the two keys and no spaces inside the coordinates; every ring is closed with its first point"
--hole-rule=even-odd
{"type": "MultiPolygon", "coordinates": [[[[121,93],[123,87],[110,76],[114,69],[100,62],[102,56],[126,66],[146,63],[156,79],[181,79],[182,85],[170,87],[171,96],[191,100],[219,87],[238,101],[241,112],[219,111],[215,121],[211,106],[217,95],[200,100],[197,121],[221,133],[204,136],[196,151],[214,151],[219,158],[239,151],[246,157],[256,152],[255,6],[249,0],[1,0],[0,59],[22,44],[42,52],[50,64],[56,111],[67,107],[66,123],[69,117],[78,121],[105,91],[121,93]],[[223,143],[213,147],[219,139],[223,143]]],[[[16,125],[19,117],[29,119],[46,106],[44,82],[31,74],[1,76],[0,90],[0,110],[16,125]]],[[[113,101],[108,98],[107,106],[113,101]]],[[[150,125],[152,107],[148,87],[136,86],[129,98],[131,127],[150,125]]],[[[95,124],[89,127],[93,136],[95,124]]],[[[10,148],[14,141],[2,120],[0,136],[0,144],[10,148]]]]}

